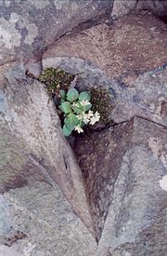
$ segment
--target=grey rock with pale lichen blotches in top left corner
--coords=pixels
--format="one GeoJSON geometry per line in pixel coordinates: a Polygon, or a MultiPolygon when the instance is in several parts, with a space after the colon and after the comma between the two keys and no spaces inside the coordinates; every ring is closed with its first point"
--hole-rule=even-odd
{"type": "Polygon", "coordinates": [[[0,1],[0,64],[40,58],[45,47],[78,23],[104,13],[110,0],[0,1]]]}

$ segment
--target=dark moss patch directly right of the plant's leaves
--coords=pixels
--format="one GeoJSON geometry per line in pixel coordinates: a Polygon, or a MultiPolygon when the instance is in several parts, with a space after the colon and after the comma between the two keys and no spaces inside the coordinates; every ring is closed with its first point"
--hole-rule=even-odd
{"type": "Polygon", "coordinates": [[[112,106],[110,104],[109,91],[104,88],[91,88],[91,103],[92,110],[100,114],[100,123],[105,126],[109,125],[112,122],[109,119],[112,106]]]}

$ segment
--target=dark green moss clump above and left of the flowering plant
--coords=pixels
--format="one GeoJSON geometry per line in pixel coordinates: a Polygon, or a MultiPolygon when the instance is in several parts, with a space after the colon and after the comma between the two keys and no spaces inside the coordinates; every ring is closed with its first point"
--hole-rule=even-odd
{"type": "Polygon", "coordinates": [[[71,81],[74,79],[73,74],[65,73],[58,68],[46,68],[40,76],[40,81],[45,83],[49,96],[59,94],[60,89],[68,90],[71,87],[71,81]]]}

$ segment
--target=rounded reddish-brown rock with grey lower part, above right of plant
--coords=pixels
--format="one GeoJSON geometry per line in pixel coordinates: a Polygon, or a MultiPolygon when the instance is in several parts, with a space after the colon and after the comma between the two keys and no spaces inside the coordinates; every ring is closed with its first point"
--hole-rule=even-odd
{"type": "Polygon", "coordinates": [[[79,74],[81,89],[109,89],[109,118],[115,123],[141,116],[167,126],[167,36],[163,25],[152,15],[132,14],[111,26],[103,23],[66,35],[47,49],[43,69],[60,67],[79,74]]]}

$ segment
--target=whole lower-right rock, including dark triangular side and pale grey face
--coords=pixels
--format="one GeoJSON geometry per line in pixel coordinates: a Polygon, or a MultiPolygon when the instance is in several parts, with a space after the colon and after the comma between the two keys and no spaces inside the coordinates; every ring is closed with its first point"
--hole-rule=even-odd
{"type": "Polygon", "coordinates": [[[96,255],[166,255],[167,128],[135,118],[76,145],[101,236],[96,255]]]}

